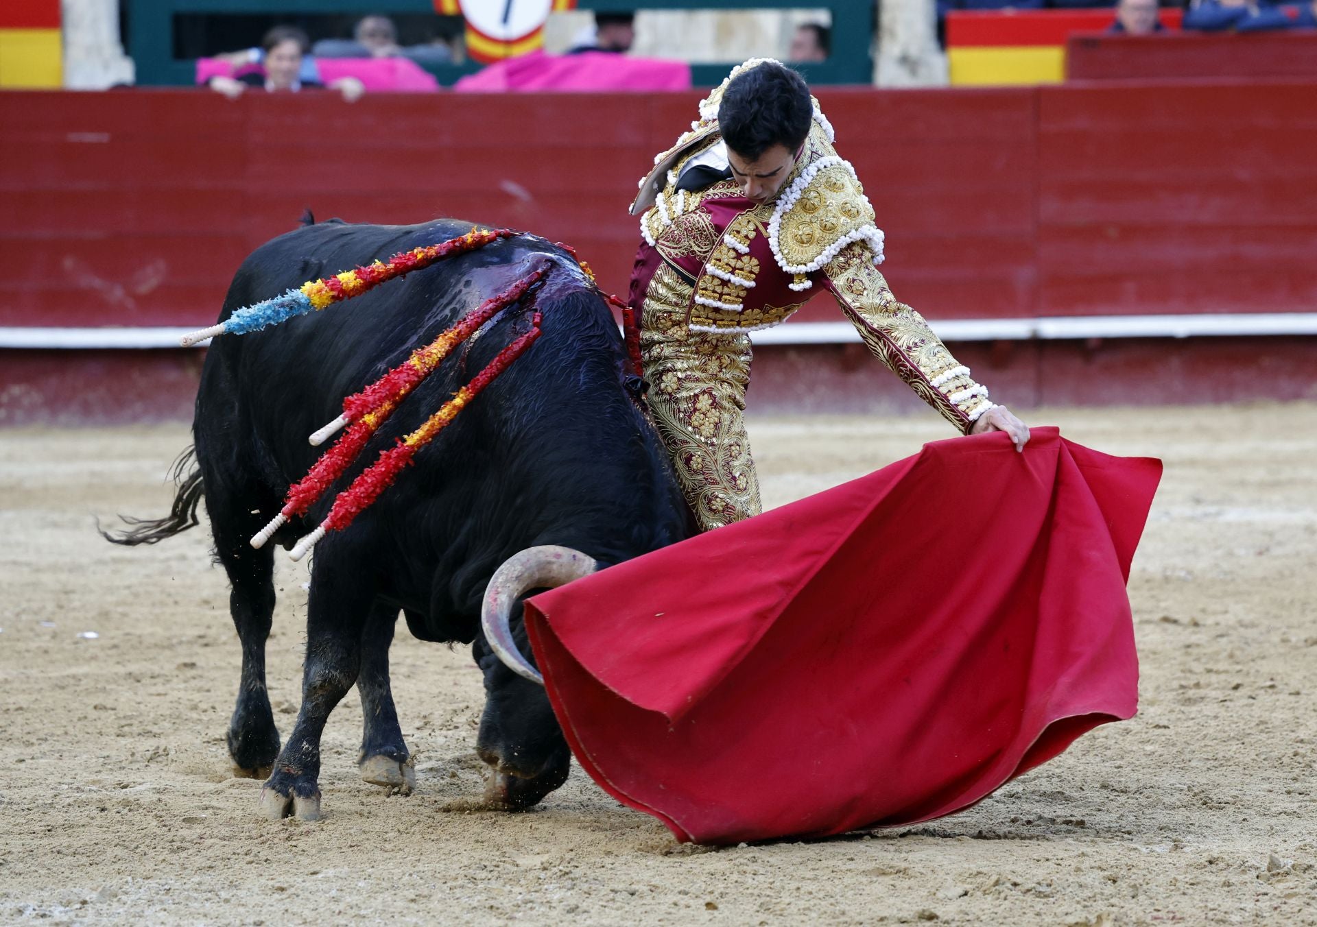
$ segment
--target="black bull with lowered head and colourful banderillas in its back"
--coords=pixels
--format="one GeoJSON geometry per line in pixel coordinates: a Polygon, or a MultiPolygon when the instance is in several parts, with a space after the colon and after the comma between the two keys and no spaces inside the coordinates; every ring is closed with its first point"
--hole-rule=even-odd
{"type": "MultiPolygon", "coordinates": [[[[220,319],[303,280],[470,228],[456,221],[300,228],[242,263],[220,319]]],[[[180,463],[170,516],[134,521],[111,540],[153,543],[196,524],[204,492],[242,644],[229,753],[240,774],[269,774],[262,791],[267,814],[317,816],[320,733],[353,685],[365,714],[362,777],[410,789],[410,753],[389,682],[389,645],[399,612],[423,640],[473,644],[487,693],[477,751],[494,768],[489,799],[528,807],[565,781],[570,755],[548,698],[491,653],[479,627],[481,603],[491,574],[525,548],[576,548],[607,565],[690,532],[670,466],[627,373],[622,338],[599,292],[561,248],[532,236],[414,271],[283,325],[212,342],[196,398],[196,467],[182,475],[180,463]],[[344,396],[540,267],[548,269],[543,286],[421,383],[306,519],[292,519],[274,535],[274,544],[250,546],[288,486],[320,454],[307,436],[341,412],[344,396]],[[335,490],[524,333],[531,302],[544,316],[539,341],[425,446],[374,506],[316,545],[302,710],[281,751],[265,683],[274,545],[287,548],[315,528],[335,490]]],[[[528,652],[519,618],[514,635],[528,652]]]]}

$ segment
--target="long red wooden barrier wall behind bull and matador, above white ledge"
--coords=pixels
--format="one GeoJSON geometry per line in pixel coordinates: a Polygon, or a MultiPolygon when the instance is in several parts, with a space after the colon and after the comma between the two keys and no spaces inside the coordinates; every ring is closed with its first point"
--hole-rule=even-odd
{"type": "MultiPolygon", "coordinates": [[[[698,96],[0,93],[0,325],[212,323],[304,207],[525,228],[620,292],[626,207],[698,96]]],[[[819,96],[930,316],[1317,305],[1310,83],[819,96]]]]}

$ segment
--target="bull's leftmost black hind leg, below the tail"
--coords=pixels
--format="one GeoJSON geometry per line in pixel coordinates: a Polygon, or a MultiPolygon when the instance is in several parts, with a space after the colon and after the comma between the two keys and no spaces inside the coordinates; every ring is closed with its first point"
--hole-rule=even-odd
{"type": "Polygon", "coordinates": [[[253,550],[248,543],[259,528],[257,516],[246,516],[250,496],[242,507],[211,495],[207,487],[215,552],[229,577],[229,614],[242,644],[242,677],[229,719],[229,756],[234,776],[265,778],[279,753],[279,731],[265,687],[265,641],[274,615],[274,553],[269,546],[253,550]],[[244,515],[232,517],[234,508],[244,515]]]}

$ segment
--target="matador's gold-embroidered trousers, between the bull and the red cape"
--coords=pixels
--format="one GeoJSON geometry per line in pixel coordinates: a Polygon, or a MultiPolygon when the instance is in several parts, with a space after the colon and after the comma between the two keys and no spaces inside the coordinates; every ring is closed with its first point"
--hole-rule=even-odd
{"type": "Polygon", "coordinates": [[[741,333],[693,332],[691,287],[660,265],[645,294],[640,354],[649,412],[703,531],[761,511],[745,436],[751,346],[741,333]]]}

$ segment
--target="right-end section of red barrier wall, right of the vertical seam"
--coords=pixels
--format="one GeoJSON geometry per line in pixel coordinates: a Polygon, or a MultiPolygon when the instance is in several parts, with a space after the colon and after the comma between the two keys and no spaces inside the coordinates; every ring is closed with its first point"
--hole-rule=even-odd
{"type": "Polygon", "coordinates": [[[1310,311],[1317,93],[1039,91],[1042,315],[1310,311]]]}

